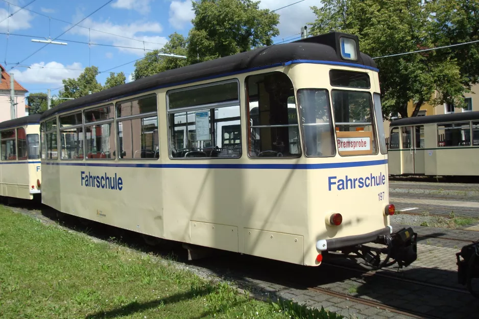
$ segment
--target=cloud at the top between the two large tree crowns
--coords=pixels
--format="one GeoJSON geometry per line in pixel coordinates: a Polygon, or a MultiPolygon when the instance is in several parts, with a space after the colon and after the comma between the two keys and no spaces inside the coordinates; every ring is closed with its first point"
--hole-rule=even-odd
{"type": "MultiPolygon", "coordinates": [[[[291,0],[261,0],[259,3],[259,8],[275,10],[291,3],[291,0]]],[[[279,14],[279,38],[285,38],[286,40],[286,37],[288,37],[288,39],[299,37],[301,27],[306,26],[308,22],[314,22],[316,19],[316,15],[310,8],[314,5],[317,7],[322,6],[320,2],[315,4],[308,1],[303,1],[291,7],[276,11],[275,13],[279,14]],[[298,35],[293,36],[295,34],[298,35]]]]}

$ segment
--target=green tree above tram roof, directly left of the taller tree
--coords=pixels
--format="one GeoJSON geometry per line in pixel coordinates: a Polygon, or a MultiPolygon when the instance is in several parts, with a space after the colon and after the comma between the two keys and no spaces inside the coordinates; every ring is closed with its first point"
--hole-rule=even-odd
{"type": "Polygon", "coordinates": [[[189,64],[185,59],[158,56],[159,53],[186,56],[187,44],[185,37],[175,32],[171,34],[169,38],[170,40],[163,46],[163,48],[161,48],[161,50],[149,52],[145,55],[145,58],[135,63],[133,79],[138,80],[189,64]]]}

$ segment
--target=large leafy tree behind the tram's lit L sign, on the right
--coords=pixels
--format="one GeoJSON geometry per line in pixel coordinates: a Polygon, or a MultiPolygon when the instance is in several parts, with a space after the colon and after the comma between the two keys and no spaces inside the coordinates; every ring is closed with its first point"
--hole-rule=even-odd
{"type": "MultiPolygon", "coordinates": [[[[320,34],[335,30],[355,34],[360,38],[361,51],[372,57],[433,48],[447,41],[457,43],[454,36],[443,29],[447,25],[456,30],[461,23],[459,17],[452,18],[456,14],[448,15],[443,8],[450,8],[453,2],[471,1],[325,0],[322,8],[312,8],[317,19],[310,23],[310,32],[320,34]]],[[[474,17],[477,19],[476,15],[474,17]]],[[[471,37],[470,31],[467,37],[471,37]]],[[[471,52],[470,48],[464,50],[471,52]]],[[[471,55],[474,54],[468,56],[471,55]]],[[[416,110],[426,102],[464,106],[463,94],[469,91],[479,73],[474,71],[476,64],[466,74],[465,62],[460,60],[459,56],[441,50],[375,59],[383,113],[398,112],[407,117],[407,104],[411,100],[415,101],[416,110]]]]}

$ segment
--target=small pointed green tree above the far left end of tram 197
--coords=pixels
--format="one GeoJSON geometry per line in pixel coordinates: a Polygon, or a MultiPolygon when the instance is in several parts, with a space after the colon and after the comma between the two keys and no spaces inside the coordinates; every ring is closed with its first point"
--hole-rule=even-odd
{"type": "Polygon", "coordinates": [[[86,67],[77,79],[66,79],[63,82],[63,91],[60,92],[60,97],[78,97],[99,92],[103,89],[102,85],[97,81],[99,74],[98,67],[86,67]]]}

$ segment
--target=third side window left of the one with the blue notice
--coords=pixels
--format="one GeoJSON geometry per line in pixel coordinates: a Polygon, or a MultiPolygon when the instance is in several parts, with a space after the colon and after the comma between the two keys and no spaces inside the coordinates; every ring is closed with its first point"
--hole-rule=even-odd
{"type": "Polygon", "coordinates": [[[61,159],[83,158],[82,113],[60,116],[61,159]]]}

